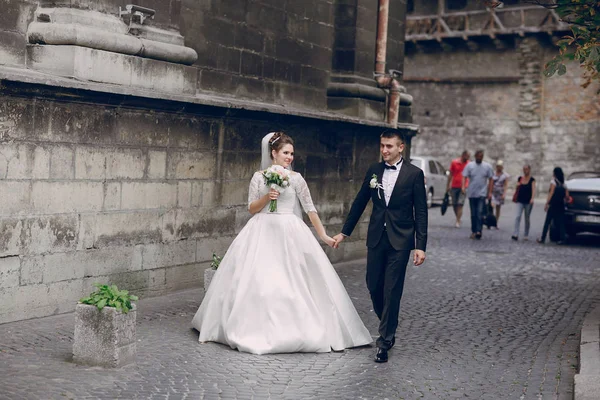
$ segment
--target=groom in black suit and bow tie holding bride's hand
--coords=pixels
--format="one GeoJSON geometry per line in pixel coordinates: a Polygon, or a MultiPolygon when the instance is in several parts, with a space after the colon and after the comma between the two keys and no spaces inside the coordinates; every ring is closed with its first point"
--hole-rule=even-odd
{"type": "Polygon", "coordinates": [[[352,203],[342,232],[334,239],[337,248],[373,201],[367,232],[367,288],[379,317],[379,338],[375,362],[388,360],[394,346],[400,298],[411,250],[413,262],[425,261],[427,244],[427,198],[423,171],[402,158],[404,141],[394,131],[380,138],[383,162],[367,170],[365,180],[352,203]]]}

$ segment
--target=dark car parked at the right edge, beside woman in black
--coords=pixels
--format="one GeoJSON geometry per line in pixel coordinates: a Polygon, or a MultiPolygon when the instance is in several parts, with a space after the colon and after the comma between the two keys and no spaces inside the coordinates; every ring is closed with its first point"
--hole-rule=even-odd
{"type": "Polygon", "coordinates": [[[600,172],[575,172],[565,183],[571,196],[565,215],[567,234],[600,233],[600,172]]]}

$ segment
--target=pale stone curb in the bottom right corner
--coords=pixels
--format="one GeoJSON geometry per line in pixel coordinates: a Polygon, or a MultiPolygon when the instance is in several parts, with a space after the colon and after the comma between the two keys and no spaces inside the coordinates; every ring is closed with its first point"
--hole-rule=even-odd
{"type": "Polygon", "coordinates": [[[600,306],[583,320],[579,343],[579,373],[575,400],[597,400],[600,395],[600,306]]]}

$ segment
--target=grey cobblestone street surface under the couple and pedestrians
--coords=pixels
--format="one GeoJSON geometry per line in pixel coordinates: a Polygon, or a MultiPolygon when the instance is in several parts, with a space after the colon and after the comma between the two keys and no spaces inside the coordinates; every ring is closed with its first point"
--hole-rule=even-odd
{"type": "MultiPolygon", "coordinates": [[[[409,270],[387,364],[373,347],[255,356],[199,344],[202,294],[188,290],[140,302],[137,364],[119,370],[71,362],[71,314],[0,325],[0,398],[571,399],[580,325],[600,302],[598,237],[513,242],[509,205],[500,230],[473,241],[451,214],[431,210],[428,260],[409,270]]],[[[542,218],[534,208],[532,238],[542,218]]],[[[364,261],[337,269],[375,334],[364,261]]]]}

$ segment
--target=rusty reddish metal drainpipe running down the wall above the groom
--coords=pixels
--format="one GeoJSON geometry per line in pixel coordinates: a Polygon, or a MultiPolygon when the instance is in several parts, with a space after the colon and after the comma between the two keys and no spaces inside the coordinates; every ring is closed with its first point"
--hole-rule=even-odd
{"type": "Polygon", "coordinates": [[[385,59],[387,51],[387,32],[390,11],[390,0],[379,0],[377,14],[377,42],[375,46],[375,72],[373,78],[377,86],[388,91],[387,122],[393,127],[398,126],[398,109],[400,107],[400,71],[390,70],[385,72],[385,59]]]}

